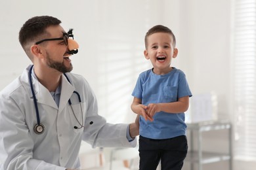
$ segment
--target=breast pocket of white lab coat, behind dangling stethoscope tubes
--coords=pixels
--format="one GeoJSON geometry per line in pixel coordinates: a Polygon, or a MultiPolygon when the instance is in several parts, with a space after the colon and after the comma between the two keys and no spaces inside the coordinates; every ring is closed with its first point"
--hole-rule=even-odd
{"type": "Polygon", "coordinates": [[[75,105],[70,105],[68,107],[70,122],[75,133],[80,133],[84,129],[85,122],[85,105],[83,103],[78,103],[75,105]]]}

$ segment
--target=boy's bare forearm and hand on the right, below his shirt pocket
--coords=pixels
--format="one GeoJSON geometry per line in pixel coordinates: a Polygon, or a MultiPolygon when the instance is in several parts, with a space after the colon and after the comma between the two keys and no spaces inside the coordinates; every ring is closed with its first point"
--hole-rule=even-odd
{"type": "Polygon", "coordinates": [[[188,110],[189,96],[181,97],[178,101],[171,103],[150,103],[148,105],[147,114],[153,117],[156,112],[180,113],[188,110]]]}

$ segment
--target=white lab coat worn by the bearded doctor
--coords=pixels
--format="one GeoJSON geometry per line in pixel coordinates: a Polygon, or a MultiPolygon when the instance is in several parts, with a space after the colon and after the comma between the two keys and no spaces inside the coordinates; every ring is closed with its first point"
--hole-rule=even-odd
{"type": "Polygon", "coordinates": [[[0,169],[1,170],[57,170],[78,168],[78,152],[83,139],[96,146],[135,146],[126,137],[127,124],[107,124],[98,116],[96,97],[83,76],[67,73],[71,84],[62,75],[59,107],[51,93],[32,76],[41,124],[45,132],[33,131],[37,124],[35,105],[29,83],[31,65],[0,92],[0,169]],[[72,112],[81,122],[81,109],[77,95],[81,95],[85,123],[80,127],[72,112]],[[93,124],[90,124],[93,122],[93,124]],[[2,162],[2,165],[1,165],[2,162]]]}

